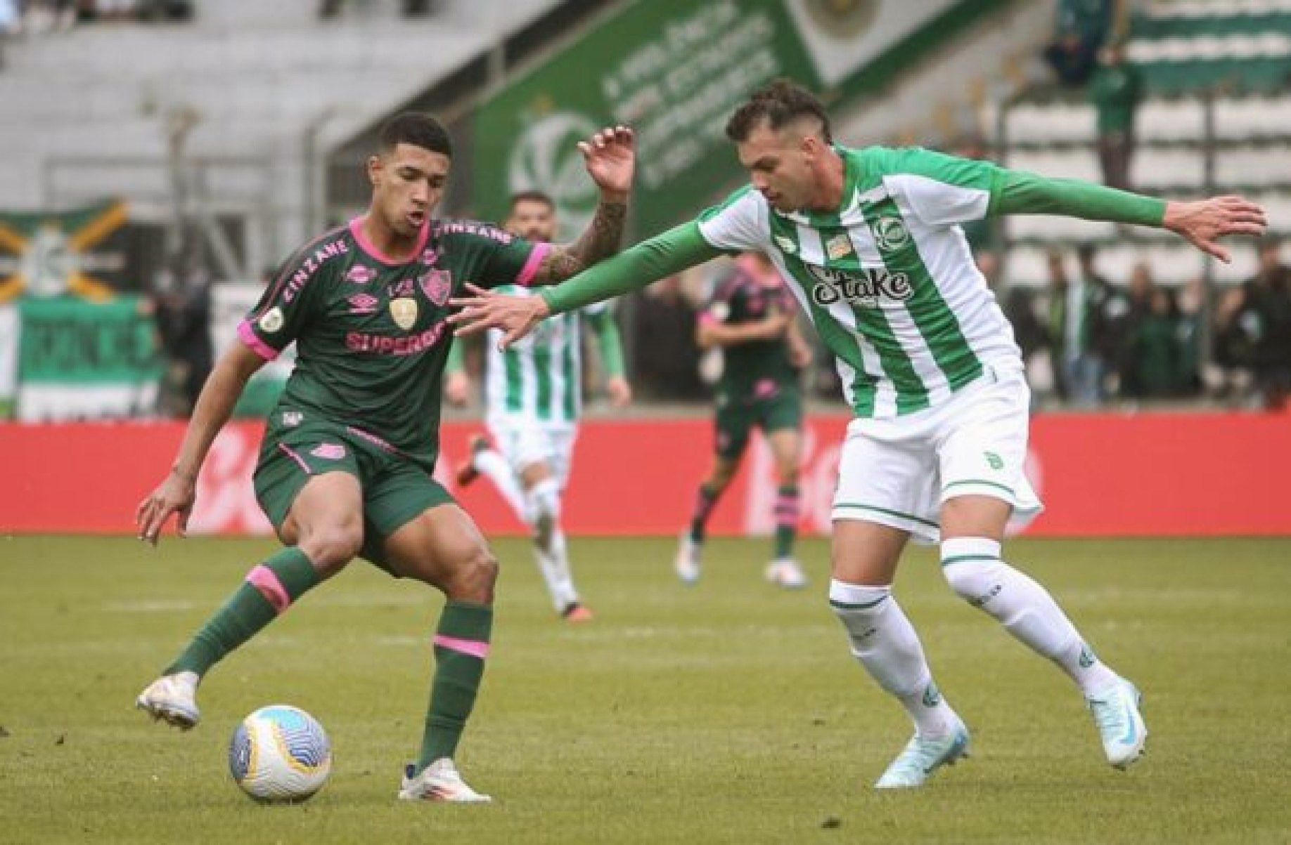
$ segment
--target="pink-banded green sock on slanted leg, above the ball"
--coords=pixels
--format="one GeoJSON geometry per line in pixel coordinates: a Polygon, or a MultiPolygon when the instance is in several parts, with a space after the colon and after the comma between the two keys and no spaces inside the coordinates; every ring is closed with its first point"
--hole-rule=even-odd
{"type": "Polygon", "coordinates": [[[188,648],[167,667],[165,675],[196,672],[199,676],[236,649],[310,587],[321,581],[314,564],[294,546],[284,548],[247,573],[247,581],[229,601],[207,619],[188,648]]]}

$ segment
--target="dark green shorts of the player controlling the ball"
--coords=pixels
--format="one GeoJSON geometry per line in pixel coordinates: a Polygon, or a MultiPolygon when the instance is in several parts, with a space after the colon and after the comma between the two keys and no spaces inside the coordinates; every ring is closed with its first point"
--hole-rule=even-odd
{"type": "Polygon", "coordinates": [[[252,481],[256,501],[281,529],[301,488],[324,472],[349,472],[363,489],[360,555],[392,572],[383,553],[387,537],[423,511],[454,502],[430,473],[391,446],[332,423],[271,428],[259,446],[252,481]]]}

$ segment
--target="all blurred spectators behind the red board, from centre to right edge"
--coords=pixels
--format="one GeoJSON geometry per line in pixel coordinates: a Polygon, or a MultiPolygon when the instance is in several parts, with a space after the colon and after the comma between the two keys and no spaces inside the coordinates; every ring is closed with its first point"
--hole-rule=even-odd
{"type": "MultiPolygon", "coordinates": [[[[995,261],[990,250],[979,253],[984,258],[995,261]]],[[[633,294],[621,308],[642,400],[707,397],[720,363],[696,346],[695,321],[706,292],[726,272],[724,262],[696,268],[633,294]]],[[[1291,390],[1291,267],[1282,263],[1277,241],[1260,245],[1252,279],[1214,290],[1202,279],[1157,284],[1148,263],[1136,264],[1130,279],[1109,280],[1088,244],[1051,252],[1048,272],[1044,288],[997,292],[1041,404],[1285,405],[1291,390]]],[[[807,387],[820,400],[838,401],[834,363],[824,350],[816,352],[804,374],[807,387]]]]}

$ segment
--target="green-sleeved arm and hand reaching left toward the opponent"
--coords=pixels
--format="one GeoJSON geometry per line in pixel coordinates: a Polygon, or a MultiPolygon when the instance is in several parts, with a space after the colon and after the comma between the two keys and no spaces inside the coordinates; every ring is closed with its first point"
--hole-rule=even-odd
{"type": "Polygon", "coordinates": [[[449,315],[456,334],[501,329],[501,348],[509,347],[553,313],[563,313],[644,288],[722,252],[700,235],[697,223],[683,223],[656,235],[609,261],[591,267],[537,297],[511,297],[467,285],[474,294],[451,299],[460,311],[449,315]]]}

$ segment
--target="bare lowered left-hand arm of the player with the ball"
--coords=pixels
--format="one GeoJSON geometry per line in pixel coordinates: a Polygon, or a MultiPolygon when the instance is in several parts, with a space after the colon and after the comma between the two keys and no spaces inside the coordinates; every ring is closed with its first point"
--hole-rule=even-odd
{"type": "Polygon", "coordinates": [[[178,513],[179,535],[188,532],[188,516],[196,498],[198,472],[201,470],[210,444],[216,435],[229,422],[229,417],[247,387],[247,379],[265,365],[265,359],[243,343],[234,343],[221,356],[207,379],[198,404],[192,409],[192,419],[183,432],[179,454],[167,477],[134,510],[134,524],[139,529],[139,539],[156,546],[161,528],[172,513],[178,513]]]}

